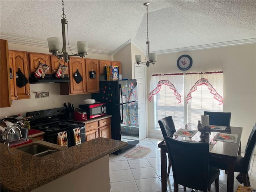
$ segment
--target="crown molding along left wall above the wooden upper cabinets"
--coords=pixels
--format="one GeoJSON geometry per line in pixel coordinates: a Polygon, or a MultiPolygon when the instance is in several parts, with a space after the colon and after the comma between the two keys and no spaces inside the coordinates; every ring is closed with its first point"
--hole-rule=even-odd
{"type": "MultiPolygon", "coordinates": [[[[1,35],[0,38],[8,40],[8,43],[48,48],[48,43],[44,42],[44,41],[36,41],[36,40],[31,40],[31,39],[26,39],[26,38],[16,38],[16,37],[4,36],[4,35],[1,35]]],[[[70,47],[71,51],[77,52],[76,46],[69,46],[69,47],[70,47]]],[[[88,53],[102,54],[102,55],[112,55],[113,54],[110,51],[102,51],[102,50],[96,50],[96,49],[88,49],[88,53]]]]}

